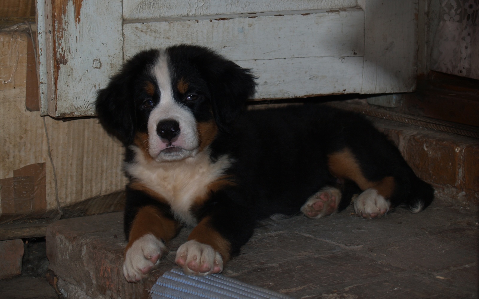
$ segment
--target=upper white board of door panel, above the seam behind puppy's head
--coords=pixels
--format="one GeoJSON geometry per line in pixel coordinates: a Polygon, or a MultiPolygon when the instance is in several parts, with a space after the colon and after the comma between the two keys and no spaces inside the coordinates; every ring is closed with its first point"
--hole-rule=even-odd
{"type": "Polygon", "coordinates": [[[364,11],[361,9],[287,13],[253,18],[230,16],[217,20],[127,23],[124,25],[125,58],[149,47],[178,43],[220,49],[235,61],[363,56],[364,11]]]}

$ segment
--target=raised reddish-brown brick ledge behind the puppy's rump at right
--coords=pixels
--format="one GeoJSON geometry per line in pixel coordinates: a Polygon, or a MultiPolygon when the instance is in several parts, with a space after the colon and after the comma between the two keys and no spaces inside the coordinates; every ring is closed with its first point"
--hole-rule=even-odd
{"type": "Polygon", "coordinates": [[[436,198],[479,205],[479,140],[371,118],[399,148],[414,172],[431,183],[436,198]]]}

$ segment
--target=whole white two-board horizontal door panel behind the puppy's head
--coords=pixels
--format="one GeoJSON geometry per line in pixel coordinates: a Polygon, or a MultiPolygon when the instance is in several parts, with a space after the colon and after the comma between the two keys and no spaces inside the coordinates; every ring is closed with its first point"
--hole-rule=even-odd
{"type": "Polygon", "coordinates": [[[364,12],[352,8],[306,15],[127,23],[125,58],[149,47],[200,44],[252,68],[259,77],[258,99],[359,93],[363,22],[364,12]]]}

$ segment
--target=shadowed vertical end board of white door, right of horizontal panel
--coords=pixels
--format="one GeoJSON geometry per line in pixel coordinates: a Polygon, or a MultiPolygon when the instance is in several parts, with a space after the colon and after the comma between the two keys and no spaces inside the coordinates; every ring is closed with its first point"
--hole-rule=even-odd
{"type": "Polygon", "coordinates": [[[365,65],[361,93],[414,91],[417,1],[365,0],[365,65]]]}

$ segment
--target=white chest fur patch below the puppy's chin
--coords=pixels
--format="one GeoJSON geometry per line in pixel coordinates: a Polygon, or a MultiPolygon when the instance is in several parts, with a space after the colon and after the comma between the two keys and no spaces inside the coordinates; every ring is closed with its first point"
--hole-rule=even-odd
{"type": "Polygon", "coordinates": [[[190,213],[191,205],[198,197],[204,197],[207,186],[224,175],[231,165],[227,155],[211,163],[207,152],[181,161],[155,162],[147,160],[142,151],[133,146],[135,160],[125,164],[125,171],[147,188],[166,199],[178,221],[195,225],[190,213]]]}

